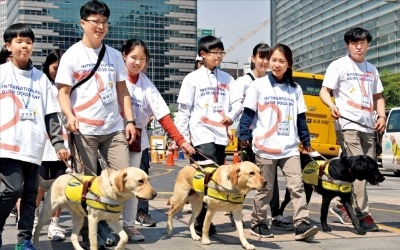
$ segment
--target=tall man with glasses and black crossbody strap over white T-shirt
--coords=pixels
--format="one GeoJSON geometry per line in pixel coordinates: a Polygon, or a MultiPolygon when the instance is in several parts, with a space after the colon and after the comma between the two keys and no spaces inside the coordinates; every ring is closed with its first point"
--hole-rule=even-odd
{"type": "MultiPolygon", "coordinates": [[[[93,0],[81,7],[80,16],[83,38],[61,58],[55,81],[59,87],[58,101],[67,118],[67,129],[74,138],[75,145],[71,145],[71,151],[75,147],[77,152],[74,156],[90,168],[77,163],[80,167],[78,172],[93,175],[97,172],[97,150],[112,168],[130,166],[127,139],[132,143],[136,132],[121,53],[102,43],[108,32],[110,9],[105,3],[93,0]],[[102,49],[105,49],[104,57],[97,71],[78,86],[77,83],[95,67],[102,49]],[[121,113],[125,115],[126,125],[121,113]],[[88,142],[76,133],[78,130],[88,142]]],[[[129,202],[132,200],[127,201],[123,220],[134,225],[135,216],[126,209],[129,202]]],[[[81,233],[85,244],[89,244],[86,232],[82,230],[81,233]]],[[[102,221],[99,235],[107,245],[116,241],[108,225],[102,221]]]]}

